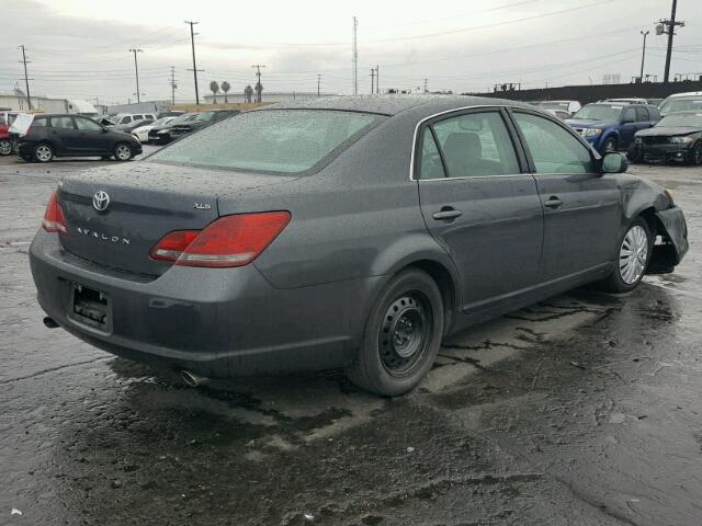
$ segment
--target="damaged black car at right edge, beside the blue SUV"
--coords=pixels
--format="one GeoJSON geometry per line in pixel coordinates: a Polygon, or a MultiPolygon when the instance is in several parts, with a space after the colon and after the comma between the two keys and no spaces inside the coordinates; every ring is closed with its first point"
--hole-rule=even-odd
{"type": "Polygon", "coordinates": [[[702,164],[702,112],[676,112],[634,137],[632,161],[677,161],[702,164]]]}

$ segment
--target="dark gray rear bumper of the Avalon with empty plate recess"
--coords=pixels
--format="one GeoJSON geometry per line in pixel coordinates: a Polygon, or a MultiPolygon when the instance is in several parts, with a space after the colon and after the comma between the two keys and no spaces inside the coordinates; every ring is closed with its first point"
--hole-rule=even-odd
{"type": "Polygon", "coordinates": [[[173,266],[147,279],[73,256],[44,231],[30,263],[39,305],[70,333],[113,354],[208,377],[349,364],[383,281],[278,289],[253,265],[173,266]],[[73,284],[107,297],[109,330],[75,318],[73,284]]]}

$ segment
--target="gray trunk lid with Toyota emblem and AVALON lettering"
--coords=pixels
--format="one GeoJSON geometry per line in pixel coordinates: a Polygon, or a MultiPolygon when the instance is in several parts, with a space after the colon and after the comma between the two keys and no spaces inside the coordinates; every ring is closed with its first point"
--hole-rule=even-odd
{"type": "Polygon", "coordinates": [[[159,276],[172,263],[149,254],[165,235],[205,228],[218,217],[219,195],[288,179],[144,161],[70,175],[59,191],[68,226],[61,244],[101,265],[159,276]]]}

